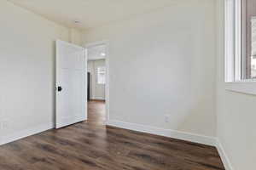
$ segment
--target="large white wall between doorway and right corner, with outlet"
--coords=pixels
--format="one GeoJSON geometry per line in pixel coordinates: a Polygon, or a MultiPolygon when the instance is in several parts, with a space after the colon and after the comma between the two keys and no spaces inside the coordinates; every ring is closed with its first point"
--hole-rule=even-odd
{"type": "Polygon", "coordinates": [[[181,0],[84,31],[110,44],[110,120],[215,136],[215,18],[214,0],[181,0]]]}

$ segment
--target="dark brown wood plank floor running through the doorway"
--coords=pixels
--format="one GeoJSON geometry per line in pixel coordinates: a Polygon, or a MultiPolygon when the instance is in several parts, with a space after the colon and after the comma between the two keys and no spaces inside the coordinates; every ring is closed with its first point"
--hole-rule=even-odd
{"type": "Polygon", "coordinates": [[[105,127],[104,103],[89,120],[0,146],[0,170],[219,170],[214,147],[105,127]]]}

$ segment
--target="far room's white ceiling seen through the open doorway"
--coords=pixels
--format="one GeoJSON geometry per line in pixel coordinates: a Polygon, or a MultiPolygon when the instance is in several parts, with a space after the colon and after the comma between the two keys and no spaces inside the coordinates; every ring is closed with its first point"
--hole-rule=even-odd
{"type": "Polygon", "coordinates": [[[105,45],[88,48],[88,60],[105,59],[105,56],[102,54],[106,54],[105,45]]]}

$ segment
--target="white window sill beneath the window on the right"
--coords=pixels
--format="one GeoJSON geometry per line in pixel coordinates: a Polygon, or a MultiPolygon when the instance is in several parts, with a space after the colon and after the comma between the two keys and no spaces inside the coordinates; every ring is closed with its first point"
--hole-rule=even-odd
{"type": "Polygon", "coordinates": [[[226,82],[225,89],[232,92],[241,94],[256,95],[256,81],[247,80],[241,82],[226,82]]]}

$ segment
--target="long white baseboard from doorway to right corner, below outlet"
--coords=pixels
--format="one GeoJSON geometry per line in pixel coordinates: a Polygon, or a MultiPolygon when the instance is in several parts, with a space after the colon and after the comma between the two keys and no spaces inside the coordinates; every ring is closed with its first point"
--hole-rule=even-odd
{"type": "Polygon", "coordinates": [[[145,126],[145,125],[140,125],[140,124],[130,123],[130,122],[108,121],[107,125],[113,126],[113,127],[130,129],[130,130],[143,132],[143,133],[151,133],[151,134],[156,134],[160,136],[166,136],[173,139],[183,139],[183,140],[187,140],[187,141],[191,141],[199,144],[207,144],[212,146],[215,146],[216,144],[216,138],[203,136],[195,133],[184,133],[184,132],[176,131],[172,129],[150,127],[150,126],[145,126]]]}

